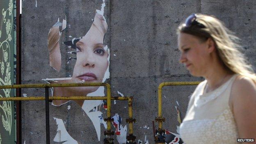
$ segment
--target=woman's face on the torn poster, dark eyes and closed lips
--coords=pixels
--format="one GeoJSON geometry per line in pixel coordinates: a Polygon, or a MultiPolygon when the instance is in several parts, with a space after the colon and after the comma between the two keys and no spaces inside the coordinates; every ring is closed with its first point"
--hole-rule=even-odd
{"type": "MultiPolygon", "coordinates": [[[[107,23],[102,15],[96,13],[94,23],[87,34],[76,42],[76,63],[73,70],[72,82],[103,82],[108,67],[107,47],[103,39],[107,31],[107,23]]],[[[75,91],[96,91],[96,87],[79,87],[75,91]]]]}

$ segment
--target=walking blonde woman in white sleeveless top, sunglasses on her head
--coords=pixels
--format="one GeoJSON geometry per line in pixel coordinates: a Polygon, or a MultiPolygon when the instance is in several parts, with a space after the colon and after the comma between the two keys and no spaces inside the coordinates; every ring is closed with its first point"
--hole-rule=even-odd
{"type": "Polygon", "coordinates": [[[221,21],[203,14],[190,15],[178,27],[179,61],[191,75],[206,78],[192,94],[180,126],[185,144],[256,139],[256,75],[237,40],[221,21]]]}

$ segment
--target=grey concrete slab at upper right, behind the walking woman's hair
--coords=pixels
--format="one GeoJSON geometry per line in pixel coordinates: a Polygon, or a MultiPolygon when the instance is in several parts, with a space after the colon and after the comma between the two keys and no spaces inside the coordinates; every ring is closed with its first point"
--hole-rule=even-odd
{"type": "Polygon", "coordinates": [[[256,70],[256,1],[201,0],[201,12],[214,15],[241,39],[243,53],[256,70]]]}

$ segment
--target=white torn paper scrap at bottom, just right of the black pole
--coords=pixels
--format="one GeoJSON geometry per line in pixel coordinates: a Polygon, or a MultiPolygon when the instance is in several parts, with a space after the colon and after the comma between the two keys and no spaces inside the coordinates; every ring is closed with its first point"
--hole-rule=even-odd
{"type": "Polygon", "coordinates": [[[63,123],[62,119],[57,119],[53,117],[53,119],[56,120],[56,124],[58,126],[57,134],[55,135],[53,141],[54,142],[64,142],[62,144],[78,144],[78,142],[73,139],[69,133],[66,131],[65,125],[63,123]]]}

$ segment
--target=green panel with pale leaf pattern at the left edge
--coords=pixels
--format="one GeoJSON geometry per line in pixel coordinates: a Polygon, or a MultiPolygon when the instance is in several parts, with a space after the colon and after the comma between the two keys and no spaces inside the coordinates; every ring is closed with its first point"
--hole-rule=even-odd
{"type": "MultiPolygon", "coordinates": [[[[0,0],[0,85],[14,85],[16,26],[13,0],[0,0]]],[[[13,97],[14,89],[0,89],[0,97],[13,97]]],[[[14,101],[0,102],[0,144],[15,144],[14,101]]]]}

